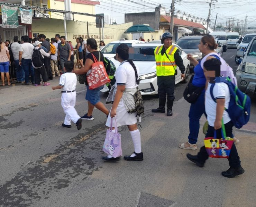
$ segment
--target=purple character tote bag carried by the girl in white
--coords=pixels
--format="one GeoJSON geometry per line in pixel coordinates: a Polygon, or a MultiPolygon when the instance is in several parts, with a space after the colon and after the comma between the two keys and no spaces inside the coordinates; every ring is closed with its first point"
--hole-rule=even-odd
{"type": "Polygon", "coordinates": [[[111,118],[110,128],[107,129],[106,139],[102,150],[114,158],[122,156],[121,135],[118,133],[116,117],[111,118]],[[115,120],[115,132],[112,132],[113,119],[115,120]]]}

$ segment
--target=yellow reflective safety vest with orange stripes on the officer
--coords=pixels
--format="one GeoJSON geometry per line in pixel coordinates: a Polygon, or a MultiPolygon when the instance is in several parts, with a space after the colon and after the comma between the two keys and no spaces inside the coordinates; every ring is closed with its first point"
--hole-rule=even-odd
{"type": "Polygon", "coordinates": [[[175,46],[169,47],[165,52],[168,57],[161,54],[161,50],[164,46],[158,46],[155,48],[156,59],[156,76],[174,76],[177,65],[174,59],[174,53],[178,49],[175,46]],[[171,62],[170,62],[170,60],[171,62]]]}

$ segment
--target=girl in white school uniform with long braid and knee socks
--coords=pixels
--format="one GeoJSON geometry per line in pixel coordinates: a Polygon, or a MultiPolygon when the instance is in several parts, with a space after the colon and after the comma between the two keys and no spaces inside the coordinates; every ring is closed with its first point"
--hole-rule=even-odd
{"type": "MultiPolygon", "coordinates": [[[[140,132],[137,127],[137,113],[129,114],[126,110],[125,102],[122,99],[125,89],[136,89],[139,84],[139,70],[132,60],[128,60],[128,50],[129,47],[126,44],[119,45],[116,50],[116,58],[121,63],[116,71],[117,90],[106,126],[110,127],[111,118],[113,117],[116,117],[118,127],[127,125],[134,144],[134,152],[129,156],[125,156],[124,159],[128,161],[142,161],[143,153],[141,151],[140,132]]],[[[104,161],[118,161],[120,157],[113,158],[108,155],[106,157],[102,157],[102,159],[104,161]]]]}

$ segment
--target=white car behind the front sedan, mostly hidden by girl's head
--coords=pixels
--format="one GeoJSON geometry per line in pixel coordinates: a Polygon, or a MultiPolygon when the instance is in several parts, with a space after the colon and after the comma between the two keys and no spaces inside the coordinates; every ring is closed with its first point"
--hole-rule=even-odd
{"type": "Polygon", "coordinates": [[[145,43],[140,40],[125,40],[125,39],[120,39],[119,41],[113,41],[108,43],[104,48],[102,48],[100,51],[103,53],[104,57],[106,58],[113,58],[116,55],[116,49],[119,45],[122,43],[125,43],[126,45],[136,45],[139,43],[145,43]]]}

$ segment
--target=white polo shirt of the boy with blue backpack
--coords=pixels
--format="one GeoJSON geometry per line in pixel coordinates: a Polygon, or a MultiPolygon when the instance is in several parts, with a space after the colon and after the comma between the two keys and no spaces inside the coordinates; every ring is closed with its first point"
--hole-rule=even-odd
{"type": "MultiPolygon", "coordinates": [[[[208,87],[205,91],[205,112],[207,114],[207,121],[209,126],[214,127],[214,122],[216,119],[217,103],[214,100],[212,100],[210,88],[211,88],[211,83],[208,83],[208,87]]],[[[219,98],[225,98],[225,108],[228,108],[229,101],[230,101],[230,92],[229,92],[228,85],[226,83],[223,83],[223,82],[215,83],[212,93],[215,100],[219,98]]],[[[224,110],[222,118],[223,118],[224,124],[227,124],[231,120],[226,110],[224,110]]]]}

